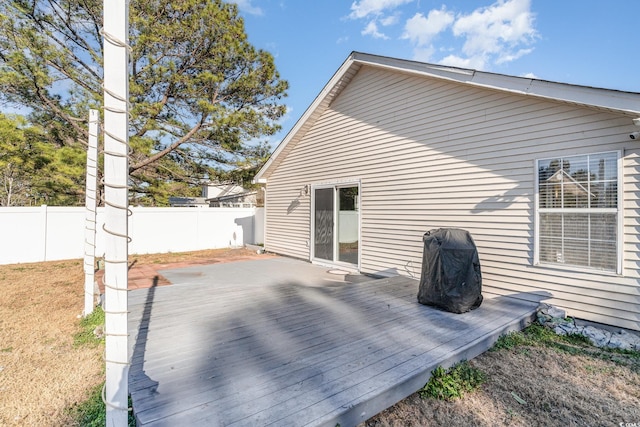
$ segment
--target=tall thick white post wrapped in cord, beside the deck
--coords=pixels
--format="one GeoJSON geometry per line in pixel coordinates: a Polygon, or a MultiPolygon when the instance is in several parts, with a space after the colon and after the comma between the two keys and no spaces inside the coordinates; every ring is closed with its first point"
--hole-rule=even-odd
{"type": "Polygon", "coordinates": [[[129,2],[104,0],[105,359],[107,426],[128,418],[129,2]]]}

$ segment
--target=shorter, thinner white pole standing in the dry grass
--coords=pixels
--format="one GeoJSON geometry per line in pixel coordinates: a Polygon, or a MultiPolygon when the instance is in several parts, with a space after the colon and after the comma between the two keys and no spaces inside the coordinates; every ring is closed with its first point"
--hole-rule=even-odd
{"type": "Polygon", "coordinates": [[[85,184],[84,315],[93,313],[96,260],[96,187],[98,184],[98,110],[89,110],[89,147],[85,184]]]}

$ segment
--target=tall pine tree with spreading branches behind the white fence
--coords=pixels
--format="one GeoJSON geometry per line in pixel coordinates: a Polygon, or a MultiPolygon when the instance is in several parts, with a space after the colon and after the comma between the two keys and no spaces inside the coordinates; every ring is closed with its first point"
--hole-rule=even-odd
{"type": "MultiPolygon", "coordinates": [[[[32,109],[51,143],[87,140],[102,104],[102,0],[0,4],[0,100],[32,109]]],[[[130,3],[130,174],[145,203],[156,188],[215,170],[255,168],[274,134],[288,84],[248,41],[235,4],[130,3]]],[[[158,199],[163,196],[157,194],[158,199]]]]}

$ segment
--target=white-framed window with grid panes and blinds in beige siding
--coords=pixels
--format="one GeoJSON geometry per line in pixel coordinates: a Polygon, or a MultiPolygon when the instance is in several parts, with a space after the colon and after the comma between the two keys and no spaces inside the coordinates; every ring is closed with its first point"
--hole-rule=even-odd
{"type": "Polygon", "coordinates": [[[620,152],[536,162],[535,264],[620,274],[620,152]]]}

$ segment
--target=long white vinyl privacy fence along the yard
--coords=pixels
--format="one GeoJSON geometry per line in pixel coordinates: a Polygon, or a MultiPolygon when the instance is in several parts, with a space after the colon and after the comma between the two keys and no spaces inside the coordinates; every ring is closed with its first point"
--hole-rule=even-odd
{"type": "MultiPolygon", "coordinates": [[[[186,252],[262,243],[264,208],[132,207],[130,254],[186,252]]],[[[104,253],[98,208],[96,257],[104,253]]],[[[0,265],[84,256],[85,208],[0,208],[0,265]]]]}

